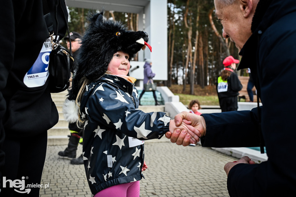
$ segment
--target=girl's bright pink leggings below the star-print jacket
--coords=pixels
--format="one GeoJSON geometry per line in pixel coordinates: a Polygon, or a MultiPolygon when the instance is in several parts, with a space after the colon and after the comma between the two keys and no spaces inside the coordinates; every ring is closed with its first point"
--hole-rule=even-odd
{"type": "Polygon", "coordinates": [[[140,196],[140,182],[123,183],[106,188],[94,197],[139,197],[140,196]]]}

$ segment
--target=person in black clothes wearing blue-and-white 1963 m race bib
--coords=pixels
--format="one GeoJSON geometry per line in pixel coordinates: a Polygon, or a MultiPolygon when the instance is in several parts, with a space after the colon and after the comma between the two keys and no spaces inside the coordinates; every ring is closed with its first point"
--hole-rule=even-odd
{"type": "MultiPolygon", "coordinates": [[[[1,181],[5,177],[6,182],[1,182],[0,196],[4,197],[39,196],[40,188],[26,188],[30,191],[23,194],[15,190],[24,192],[24,188],[13,187],[8,180],[24,181],[25,186],[41,182],[47,130],[59,120],[48,87],[48,61],[42,59],[51,51],[43,2],[1,2],[0,16],[5,20],[0,26],[5,28],[0,28],[0,169],[1,181]]],[[[61,39],[67,31],[68,13],[65,0],[58,2],[61,39]]],[[[54,1],[48,1],[47,8],[56,32],[54,1]]]]}

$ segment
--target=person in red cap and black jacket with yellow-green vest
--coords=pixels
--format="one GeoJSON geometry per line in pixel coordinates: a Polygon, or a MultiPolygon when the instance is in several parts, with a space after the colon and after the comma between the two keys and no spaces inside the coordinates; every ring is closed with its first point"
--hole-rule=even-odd
{"type": "Polygon", "coordinates": [[[237,96],[242,89],[242,84],[234,72],[239,60],[231,55],[223,61],[224,70],[220,73],[217,81],[217,92],[222,112],[237,111],[237,96]]]}

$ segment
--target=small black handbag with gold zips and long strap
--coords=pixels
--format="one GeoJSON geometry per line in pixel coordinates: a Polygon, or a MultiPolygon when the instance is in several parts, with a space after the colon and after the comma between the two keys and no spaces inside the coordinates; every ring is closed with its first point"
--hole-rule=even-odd
{"type": "MultiPolygon", "coordinates": [[[[57,6],[59,4],[59,0],[55,1],[55,12],[57,12],[57,6]]],[[[61,5],[61,4],[60,4],[61,5]]],[[[74,59],[71,54],[71,39],[68,27],[68,21],[65,17],[65,13],[63,11],[65,21],[67,24],[67,31],[69,35],[69,42],[70,42],[70,52],[61,45],[57,44],[57,35],[58,35],[58,26],[59,22],[57,20],[57,14],[55,14],[55,20],[57,23],[57,30],[56,30],[56,37],[54,39],[54,31],[52,26],[52,18],[50,16],[50,12],[48,11],[47,1],[43,0],[43,11],[46,13],[44,15],[47,28],[49,30],[49,35],[51,37],[52,43],[52,51],[49,55],[49,88],[51,93],[58,93],[66,90],[68,87],[71,89],[71,82],[72,82],[72,65],[74,59]],[[52,32],[52,34],[51,34],[52,32]]]]}

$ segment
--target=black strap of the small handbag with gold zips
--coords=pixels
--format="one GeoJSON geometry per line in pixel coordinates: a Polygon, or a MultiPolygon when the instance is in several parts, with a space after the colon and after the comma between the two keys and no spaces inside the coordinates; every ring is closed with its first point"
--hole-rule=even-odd
{"type": "Polygon", "coordinates": [[[56,37],[53,40],[53,35],[54,35],[53,22],[52,22],[52,17],[50,15],[50,11],[48,9],[47,0],[42,0],[42,3],[43,3],[43,14],[46,13],[46,14],[44,14],[44,18],[45,18],[46,26],[47,26],[47,29],[48,29],[48,32],[49,32],[49,36],[52,38],[52,48],[53,49],[54,49],[54,46],[57,45],[57,43],[56,43],[57,42],[57,35],[59,33],[59,21],[57,20],[57,7],[58,7],[58,5],[60,5],[61,10],[62,10],[63,15],[64,15],[65,22],[67,24],[67,32],[68,32],[69,42],[70,42],[70,57],[73,57],[68,20],[66,18],[65,12],[64,12],[64,10],[62,8],[62,4],[59,4],[59,0],[55,0],[55,2],[54,2],[54,15],[55,15],[54,17],[55,17],[56,24],[57,24],[57,31],[56,31],[56,37]]]}

